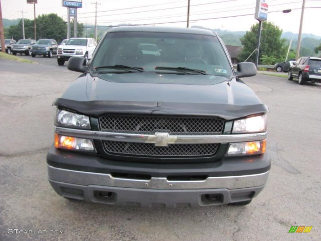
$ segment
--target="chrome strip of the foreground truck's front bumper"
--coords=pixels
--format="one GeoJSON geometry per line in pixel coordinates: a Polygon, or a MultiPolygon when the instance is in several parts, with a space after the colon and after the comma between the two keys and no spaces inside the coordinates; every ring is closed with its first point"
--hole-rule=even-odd
{"type": "Polygon", "coordinates": [[[115,178],[110,174],[61,169],[48,165],[48,177],[50,180],[83,186],[101,185],[142,189],[247,188],[265,185],[268,175],[269,171],[253,175],[208,177],[205,180],[197,181],[169,181],[166,177],[138,180],[115,178]]]}

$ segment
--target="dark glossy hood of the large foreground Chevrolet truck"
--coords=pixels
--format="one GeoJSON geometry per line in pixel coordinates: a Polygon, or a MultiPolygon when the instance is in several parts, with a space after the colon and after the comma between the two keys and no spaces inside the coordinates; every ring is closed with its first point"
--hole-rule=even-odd
{"type": "Polygon", "coordinates": [[[256,94],[241,80],[210,75],[83,74],[62,98],[75,101],[126,101],[260,104],[256,94]]]}

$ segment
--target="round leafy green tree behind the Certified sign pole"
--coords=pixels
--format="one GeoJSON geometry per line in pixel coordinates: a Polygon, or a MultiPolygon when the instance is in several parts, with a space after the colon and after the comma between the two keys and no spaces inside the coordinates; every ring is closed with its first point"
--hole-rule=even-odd
{"type": "MultiPolygon", "coordinates": [[[[256,49],[258,28],[258,23],[252,25],[250,31],[247,31],[241,38],[243,45],[243,51],[240,54],[241,61],[244,61],[256,49]]],[[[260,56],[273,56],[275,59],[280,59],[286,55],[284,48],[286,40],[281,39],[281,34],[282,30],[278,26],[271,22],[262,22],[260,56]]],[[[248,61],[255,62],[255,54],[248,61]]]]}

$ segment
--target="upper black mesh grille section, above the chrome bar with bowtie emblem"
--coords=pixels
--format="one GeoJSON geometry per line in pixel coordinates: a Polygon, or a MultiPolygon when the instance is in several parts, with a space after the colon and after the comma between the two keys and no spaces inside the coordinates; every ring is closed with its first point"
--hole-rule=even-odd
{"type": "Polygon", "coordinates": [[[116,116],[99,118],[100,130],[122,133],[153,134],[168,132],[171,135],[221,134],[224,121],[202,117],[116,116]]]}

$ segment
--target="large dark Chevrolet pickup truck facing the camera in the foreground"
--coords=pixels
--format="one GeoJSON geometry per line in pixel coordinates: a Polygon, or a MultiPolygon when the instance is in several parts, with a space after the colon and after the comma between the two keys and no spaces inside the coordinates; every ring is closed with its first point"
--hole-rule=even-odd
{"type": "Polygon", "coordinates": [[[143,207],[246,205],[264,188],[267,107],[222,40],[193,28],[115,27],[56,106],[48,178],[67,199],[143,207]],[[160,54],[145,53],[157,46],[160,54]]]}

